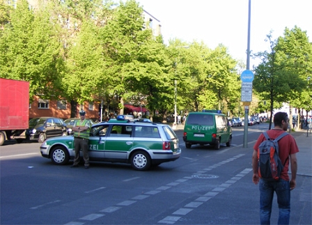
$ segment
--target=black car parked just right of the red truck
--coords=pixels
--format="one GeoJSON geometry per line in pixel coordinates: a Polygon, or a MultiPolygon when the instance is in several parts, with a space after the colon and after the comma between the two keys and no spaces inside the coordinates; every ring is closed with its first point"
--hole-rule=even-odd
{"type": "Polygon", "coordinates": [[[26,130],[26,139],[38,140],[39,143],[49,137],[66,136],[66,125],[61,118],[38,117],[29,121],[29,129],[26,130]]]}

